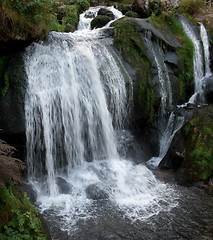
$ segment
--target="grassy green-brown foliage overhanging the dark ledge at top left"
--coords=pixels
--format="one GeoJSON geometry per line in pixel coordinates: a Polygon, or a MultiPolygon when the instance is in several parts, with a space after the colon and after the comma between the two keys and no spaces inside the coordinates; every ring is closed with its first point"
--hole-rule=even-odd
{"type": "Polygon", "coordinates": [[[27,32],[29,35],[37,37],[37,35],[47,34],[51,30],[63,30],[62,27],[59,27],[55,13],[56,2],[55,0],[4,1],[2,3],[3,31],[10,37],[10,33],[6,29],[8,21],[11,22],[10,27],[13,28],[13,31],[20,35],[22,32],[25,34],[27,32]]]}

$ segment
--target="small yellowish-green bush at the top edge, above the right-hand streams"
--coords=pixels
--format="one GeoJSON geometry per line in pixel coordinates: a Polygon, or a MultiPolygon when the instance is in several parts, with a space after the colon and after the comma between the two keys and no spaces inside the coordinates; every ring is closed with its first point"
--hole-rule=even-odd
{"type": "Polygon", "coordinates": [[[201,8],[204,7],[205,5],[203,0],[182,0],[179,12],[195,15],[196,13],[199,13],[201,8]]]}

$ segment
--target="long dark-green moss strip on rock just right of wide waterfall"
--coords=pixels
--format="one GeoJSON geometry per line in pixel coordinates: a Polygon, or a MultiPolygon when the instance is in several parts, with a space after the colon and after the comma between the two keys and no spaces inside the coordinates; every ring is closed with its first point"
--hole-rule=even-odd
{"type": "Polygon", "coordinates": [[[121,19],[114,24],[114,44],[123,58],[136,70],[134,110],[147,125],[153,120],[154,91],[150,62],[146,56],[137,23],[121,19]]]}

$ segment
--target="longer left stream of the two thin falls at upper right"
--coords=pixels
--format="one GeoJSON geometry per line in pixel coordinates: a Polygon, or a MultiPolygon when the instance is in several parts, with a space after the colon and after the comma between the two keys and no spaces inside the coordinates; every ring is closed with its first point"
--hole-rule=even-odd
{"type": "Polygon", "coordinates": [[[194,44],[194,58],[193,58],[193,67],[194,67],[194,94],[189,99],[189,103],[199,102],[200,104],[205,103],[203,96],[203,83],[204,83],[204,59],[203,59],[203,49],[200,39],[196,36],[193,28],[190,24],[184,19],[180,18],[180,22],[184,28],[185,33],[190,38],[194,44]]]}

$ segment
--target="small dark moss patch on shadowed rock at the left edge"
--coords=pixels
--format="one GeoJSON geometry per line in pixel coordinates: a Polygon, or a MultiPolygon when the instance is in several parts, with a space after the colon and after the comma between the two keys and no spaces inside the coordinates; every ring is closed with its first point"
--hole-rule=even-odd
{"type": "Polygon", "coordinates": [[[5,97],[10,86],[8,73],[6,71],[8,61],[8,56],[0,57],[0,99],[5,97]]]}

